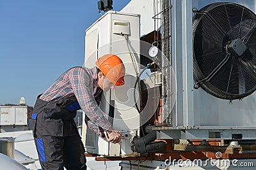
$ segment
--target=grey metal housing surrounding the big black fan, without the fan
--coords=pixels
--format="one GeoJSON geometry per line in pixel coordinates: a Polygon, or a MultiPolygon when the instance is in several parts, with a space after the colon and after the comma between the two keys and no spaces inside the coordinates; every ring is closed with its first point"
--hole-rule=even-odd
{"type": "MultiPolygon", "coordinates": [[[[172,66],[177,78],[177,101],[171,127],[160,130],[160,139],[256,139],[256,94],[243,101],[219,99],[193,85],[192,9],[218,1],[171,1],[172,66]],[[165,130],[164,130],[165,129],[165,130]],[[172,130],[175,129],[175,130],[172,130]],[[182,130],[179,130],[182,129],[182,130]],[[233,137],[232,137],[233,136],[233,137]]],[[[254,1],[227,1],[255,12],[254,1]]]]}

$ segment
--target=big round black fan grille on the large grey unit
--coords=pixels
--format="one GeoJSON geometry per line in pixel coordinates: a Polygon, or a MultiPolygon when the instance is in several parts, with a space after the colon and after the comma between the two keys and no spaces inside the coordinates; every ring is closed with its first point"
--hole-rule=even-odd
{"type": "Polygon", "coordinates": [[[252,94],[256,90],[255,30],[255,14],[239,4],[213,3],[196,11],[193,67],[197,84],[221,99],[252,94]],[[223,62],[227,59],[226,46],[237,38],[246,45],[246,51],[239,57],[230,53],[223,62]]]}

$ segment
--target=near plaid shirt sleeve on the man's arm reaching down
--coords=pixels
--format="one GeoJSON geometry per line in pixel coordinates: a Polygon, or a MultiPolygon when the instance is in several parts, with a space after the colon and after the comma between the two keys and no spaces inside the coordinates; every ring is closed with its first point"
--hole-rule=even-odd
{"type": "Polygon", "coordinates": [[[86,125],[94,132],[104,138],[104,131],[111,130],[111,124],[104,117],[104,112],[100,110],[93,96],[93,82],[90,74],[80,69],[72,69],[68,74],[72,86],[72,90],[80,104],[82,110],[86,114],[86,125]]]}

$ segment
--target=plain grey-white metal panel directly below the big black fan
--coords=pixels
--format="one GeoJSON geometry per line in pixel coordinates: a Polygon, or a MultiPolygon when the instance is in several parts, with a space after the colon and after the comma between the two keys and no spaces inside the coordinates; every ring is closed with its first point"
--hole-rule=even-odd
{"type": "MultiPolygon", "coordinates": [[[[204,90],[194,90],[195,125],[228,127],[256,127],[256,94],[243,101],[218,99],[204,90]]],[[[201,127],[202,128],[202,127],[201,127]]]]}

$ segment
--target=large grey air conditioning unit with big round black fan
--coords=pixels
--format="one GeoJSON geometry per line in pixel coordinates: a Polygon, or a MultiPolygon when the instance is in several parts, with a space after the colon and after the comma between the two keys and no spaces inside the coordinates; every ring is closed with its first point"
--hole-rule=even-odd
{"type": "Polygon", "coordinates": [[[176,103],[157,137],[256,139],[255,5],[172,2],[176,103]]]}

